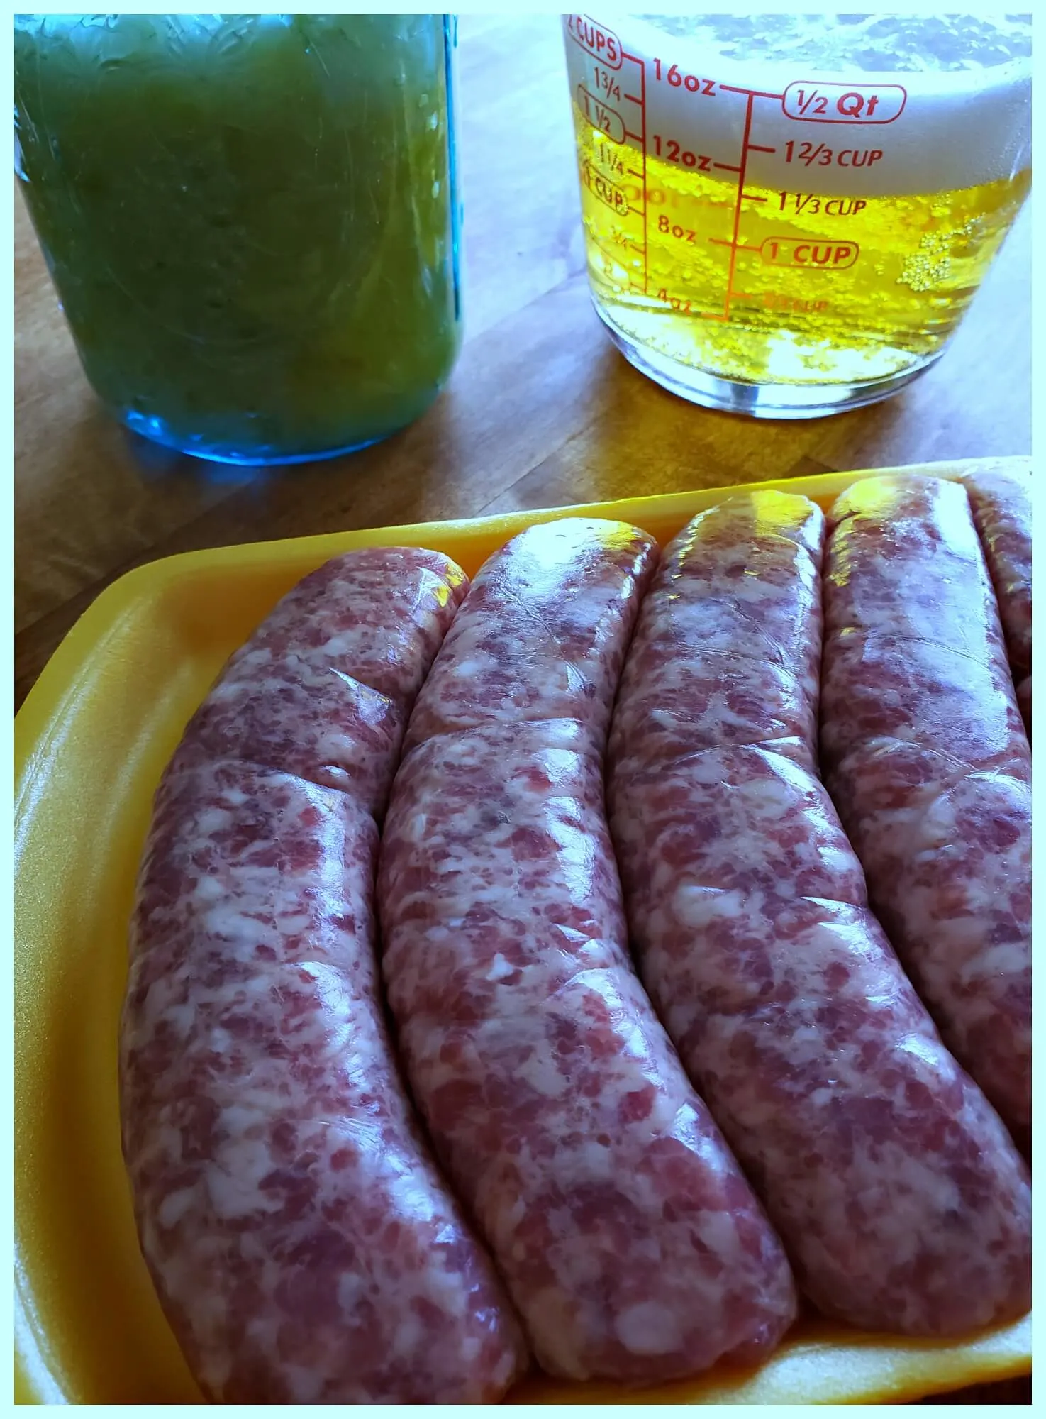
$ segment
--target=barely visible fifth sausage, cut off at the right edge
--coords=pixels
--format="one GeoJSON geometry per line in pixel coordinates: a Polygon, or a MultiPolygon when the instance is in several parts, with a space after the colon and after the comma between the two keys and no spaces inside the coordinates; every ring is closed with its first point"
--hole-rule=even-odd
{"type": "Polygon", "coordinates": [[[1009,463],[960,480],[974,509],[981,546],[999,602],[1018,705],[1032,734],[1032,478],[1009,463]]]}

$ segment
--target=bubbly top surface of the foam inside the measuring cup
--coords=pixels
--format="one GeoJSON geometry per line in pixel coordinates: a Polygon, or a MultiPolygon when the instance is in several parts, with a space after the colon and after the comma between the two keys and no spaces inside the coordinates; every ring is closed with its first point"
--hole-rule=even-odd
{"type": "Polygon", "coordinates": [[[1032,53],[1030,14],[646,14],[665,34],[726,60],[801,62],[806,71],[954,74],[1032,53]]]}

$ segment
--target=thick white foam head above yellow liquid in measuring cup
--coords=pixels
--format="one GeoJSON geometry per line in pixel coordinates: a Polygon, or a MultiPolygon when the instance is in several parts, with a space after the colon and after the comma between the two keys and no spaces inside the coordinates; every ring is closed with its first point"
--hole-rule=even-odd
{"type": "MultiPolygon", "coordinates": [[[[814,91],[819,95],[802,116],[794,101],[754,99],[750,142],[757,149],[747,158],[748,186],[828,196],[943,193],[1013,177],[1030,163],[1029,16],[605,11],[587,20],[611,30],[624,51],[643,62],[646,133],[706,155],[724,182],[730,165],[740,162],[746,98],[723,85],[771,95],[794,85],[802,87],[804,101],[814,91]],[[693,75],[700,85],[668,81],[672,65],[675,78],[693,75]],[[849,88],[879,89],[875,119],[838,119],[832,105],[849,88]],[[818,121],[822,98],[828,108],[818,121]],[[899,106],[892,122],[883,121],[899,106]],[[802,152],[818,149],[811,163],[798,159],[801,145],[808,145],[802,152]],[[876,150],[877,159],[860,163],[862,153],[876,150]]],[[[585,82],[592,58],[570,34],[567,61],[571,88],[585,82]]],[[[634,68],[626,61],[622,75],[634,68]]]]}

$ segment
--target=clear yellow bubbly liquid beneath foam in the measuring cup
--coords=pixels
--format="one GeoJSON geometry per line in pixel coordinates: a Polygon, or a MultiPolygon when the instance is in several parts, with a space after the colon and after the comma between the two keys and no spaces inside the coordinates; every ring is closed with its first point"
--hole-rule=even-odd
{"type": "MultiPolygon", "coordinates": [[[[601,142],[594,129],[583,132],[583,163],[595,167],[601,142]]],[[[755,250],[737,251],[729,319],[720,321],[730,248],[709,234],[729,240],[736,186],[648,159],[648,291],[636,289],[642,253],[607,203],[583,189],[592,294],[625,333],[724,379],[890,376],[934,355],[958,325],[1029,183],[1023,172],[958,192],[879,197],[870,210],[840,199],[831,211],[831,199],[816,193],[747,189],[763,209],[744,227],[755,250]]]]}

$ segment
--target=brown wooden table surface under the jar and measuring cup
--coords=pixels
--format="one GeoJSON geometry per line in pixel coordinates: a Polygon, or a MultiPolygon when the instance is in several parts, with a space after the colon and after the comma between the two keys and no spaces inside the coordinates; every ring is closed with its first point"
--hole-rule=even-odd
{"type": "MultiPolygon", "coordinates": [[[[591,309],[558,23],[462,18],[459,77],[466,343],[424,419],[347,458],[248,474],[112,424],[17,199],[16,702],[113,578],[173,552],[1030,451],[1030,213],[944,359],[896,399],[822,420],[713,413],[634,370],[591,309]]],[[[1029,1403],[1030,1385],[954,1398],[1029,1403]]]]}

